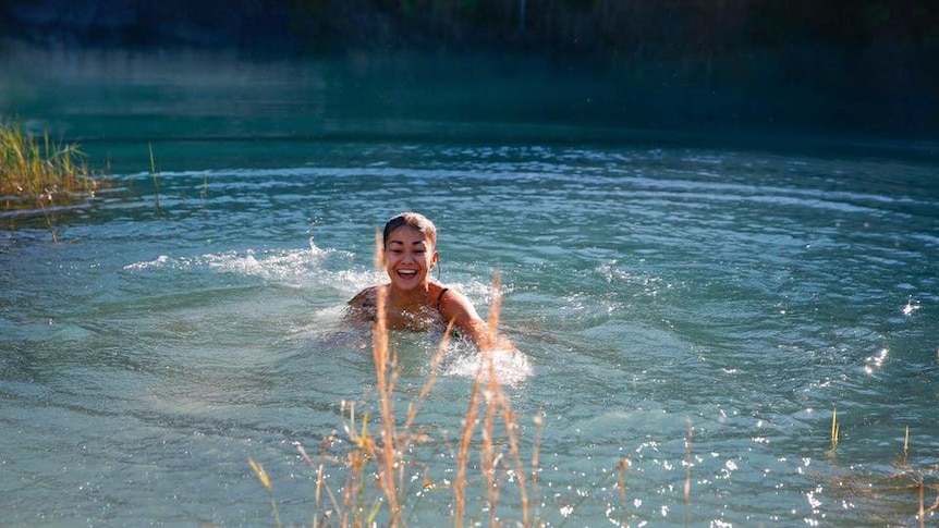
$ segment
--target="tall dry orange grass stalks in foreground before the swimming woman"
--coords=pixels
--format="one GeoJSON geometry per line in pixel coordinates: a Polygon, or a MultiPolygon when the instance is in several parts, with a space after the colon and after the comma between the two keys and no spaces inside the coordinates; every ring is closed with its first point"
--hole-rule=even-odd
{"type": "MultiPolygon", "coordinates": [[[[380,234],[376,237],[376,270],[380,272],[380,234]]],[[[483,502],[483,511],[488,516],[485,524],[489,526],[537,526],[531,506],[533,491],[537,482],[538,442],[540,441],[540,420],[536,420],[535,447],[531,465],[526,465],[520,449],[520,426],[510,406],[503,386],[499,382],[493,360],[493,346],[499,343],[497,328],[500,314],[500,284],[493,280],[493,302],[489,309],[488,324],[490,334],[486,345],[479,353],[483,355],[480,368],[476,372],[467,397],[467,407],[459,434],[451,445],[451,457],[455,464],[455,477],[452,482],[435,482],[424,467],[424,478],[419,486],[424,490],[451,490],[453,499],[450,507],[451,521],[454,527],[462,528],[467,521],[472,526],[484,524],[483,519],[474,518],[476,512],[470,512],[467,502],[483,502]],[[478,471],[476,474],[475,471],[478,471]],[[500,494],[507,484],[516,488],[521,504],[513,504],[504,509],[499,508],[500,494]],[[485,496],[471,496],[470,490],[483,490],[485,496]]],[[[398,357],[394,348],[389,346],[387,318],[382,290],[377,299],[378,315],[373,327],[371,353],[375,366],[375,397],[377,417],[365,413],[358,415],[355,404],[342,404],[342,435],[330,435],[322,442],[317,459],[296,443],[301,457],[306,461],[316,475],[316,491],[314,495],[314,514],[312,526],[357,528],[370,526],[388,526],[391,528],[406,526],[405,511],[408,507],[406,498],[408,481],[406,470],[420,467],[422,463],[412,459],[412,447],[425,440],[426,434],[415,429],[415,420],[419,415],[422,404],[430,394],[437,379],[438,366],[450,341],[453,324],[447,328],[434,358],[430,370],[419,393],[407,402],[406,413],[399,415],[395,404],[399,396],[395,393],[399,380],[398,357]],[[402,419],[399,419],[402,416],[402,419]],[[375,423],[373,421],[376,421],[375,423]],[[340,455],[330,454],[336,444],[347,445],[340,455]],[[341,486],[328,481],[329,467],[339,467],[344,476],[341,486]]],[[[264,468],[249,461],[252,468],[261,484],[270,493],[271,486],[264,468]]],[[[413,484],[411,484],[413,486],[413,484]]],[[[413,505],[412,505],[413,507],[413,505]]],[[[273,501],[271,508],[275,521],[280,525],[273,501]]]]}

